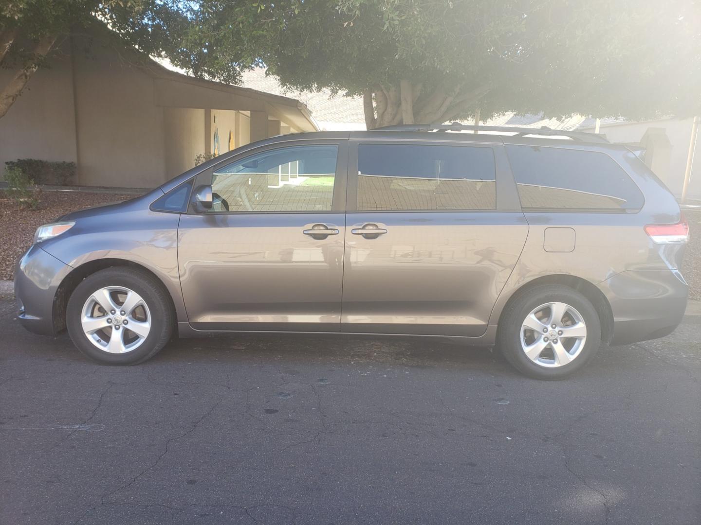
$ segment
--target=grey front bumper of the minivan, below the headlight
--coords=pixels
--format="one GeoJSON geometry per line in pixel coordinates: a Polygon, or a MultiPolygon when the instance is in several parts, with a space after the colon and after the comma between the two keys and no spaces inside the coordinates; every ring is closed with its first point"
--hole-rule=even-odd
{"type": "Polygon", "coordinates": [[[73,268],[34,244],[15,267],[17,318],[30,332],[55,335],[56,291],[73,268]]]}

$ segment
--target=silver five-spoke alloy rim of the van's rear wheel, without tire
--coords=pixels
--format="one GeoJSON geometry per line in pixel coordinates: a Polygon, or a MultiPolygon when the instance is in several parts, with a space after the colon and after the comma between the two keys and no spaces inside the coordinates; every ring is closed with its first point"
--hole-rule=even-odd
{"type": "Polygon", "coordinates": [[[521,346],[526,356],[543,367],[571,363],[587,340],[582,315],[564,302],[547,302],[533,309],[521,327],[521,346]]]}

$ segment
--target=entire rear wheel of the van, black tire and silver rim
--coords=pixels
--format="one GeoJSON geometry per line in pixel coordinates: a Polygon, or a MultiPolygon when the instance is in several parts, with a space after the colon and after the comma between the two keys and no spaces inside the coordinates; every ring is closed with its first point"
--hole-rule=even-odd
{"type": "Polygon", "coordinates": [[[564,379],[601,344],[601,322],[587,298],[560,285],[525,290],[499,321],[497,344],[518,370],[537,379],[564,379]]]}

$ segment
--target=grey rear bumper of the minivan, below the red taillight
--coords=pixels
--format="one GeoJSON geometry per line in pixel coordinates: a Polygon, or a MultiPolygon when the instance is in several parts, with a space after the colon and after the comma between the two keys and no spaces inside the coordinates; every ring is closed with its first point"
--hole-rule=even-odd
{"type": "Polygon", "coordinates": [[[629,270],[597,286],[613,311],[611,344],[665,337],[681,323],[688,285],[679,270],[629,270]]]}

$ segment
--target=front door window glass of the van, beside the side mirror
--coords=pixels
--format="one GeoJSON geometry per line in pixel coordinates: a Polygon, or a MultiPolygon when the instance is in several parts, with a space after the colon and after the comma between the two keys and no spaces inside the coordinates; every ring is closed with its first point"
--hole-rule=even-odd
{"type": "Polygon", "coordinates": [[[217,168],[210,211],[328,211],[337,156],[337,146],[289,146],[217,168]]]}

